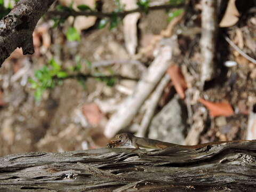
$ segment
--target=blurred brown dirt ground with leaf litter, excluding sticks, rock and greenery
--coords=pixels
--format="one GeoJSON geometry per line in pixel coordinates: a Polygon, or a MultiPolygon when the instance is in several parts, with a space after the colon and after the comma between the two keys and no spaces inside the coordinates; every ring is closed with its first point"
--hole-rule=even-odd
{"type": "MultiPolygon", "coordinates": [[[[107,10],[113,5],[104,6],[107,10]]],[[[187,30],[198,27],[200,19],[198,11],[192,12],[191,15],[194,19],[186,18],[183,23],[188,25],[187,30]]],[[[235,111],[230,117],[210,117],[205,109],[206,115],[201,114],[196,117],[197,119],[188,119],[190,127],[199,121],[198,118],[204,122],[204,128],[199,131],[199,142],[236,140],[246,136],[249,114],[256,102],[256,66],[234,51],[223,38],[228,34],[230,39],[238,44],[241,42],[238,34],[242,34],[243,50],[252,58],[256,58],[255,9],[243,10],[241,18],[236,25],[220,30],[217,74],[213,81],[205,84],[204,90],[199,90],[197,83],[200,74],[200,59],[198,59],[200,34],[191,37],[178,36],[181,50],[178,64],[183,66],[182,72],[186,79],[189,79],[188,94],[193,97],[197,92],[209,101],[228,101],[235,111]],[[223,62],[228,60],[235,61],[236,65],[223,66],[223,62]]],[[[168,25],[166,20],[167,15],[163,10],[150,12],[148,15],[143,14],[138,23],[138,51],[142,46],[147,46],[150,42],[148,39],[166,28],[168,25]]],[[[122,25],[114,30],[98,29],[98,22],[82,31],[81,42],[68,42],[65,37],[68,23],[52,29],[49,27],[52,21],[42,20],[38,27],[46,26],[44,33],[50,37],[51,45],[45,49],[42,45],[42,36],[41,44],[36,47],[34,55],[22,56],[16,51],[4,62],[0,69],[0,156],[28,151],[56,152],[106,146],[108,139],[103,135],[104,125],[118,108],[118,103],[127,97],[126,92],[134,89],[137,81],[119,79],[115,86],[109,87],[104,82],[89,78],[85,82],[84,89],[76,79],[66,79],[62,85],[46,90],[41,102],[35,102],[34,90],[28,83],[28,78],[34,76],[34,71],[47,64],[52,57],[63,67],[70,67],[75,65],[76,55],[91,62],[117,60],[113,65],[99,67],[98,70],[108,73],[111,69],[115,74],[140,78],[142,71],[138,65],[121,62],[131,59],[125,49],[122,25]],[[125,85],[126,92],[120,91],[118,85],[125,85]],[[85,115],[86,107],[91,103],[100,106],[99,110],[94,106],[98,111],[97,115],[100,116],[100,123],[92,124],[85,115]]],[[[152,59],[153,55],[148,53],[146,57],[140,58],[140,62],[144,68],[147,68],[152,59]]],[[[90,71],[85,61],[82,65],[84,73],[90,71]]],[[[166,87],[169,96],[166,97],[163,93],[163,97],[167,99],[164,104],[159,103],[156,113],[174,97],[174,89],[169,88],[166,87]]],[[[202,107],[202,103],[199,102],[191,104],[194,114],[202,107]]],[[[140,115],[135,121],[140,121],[140,115]]],[[[95,117],[96,114],[93,116],[95,117]]],[[[188,132],[189,129],[185,134],[188,132]]]]}

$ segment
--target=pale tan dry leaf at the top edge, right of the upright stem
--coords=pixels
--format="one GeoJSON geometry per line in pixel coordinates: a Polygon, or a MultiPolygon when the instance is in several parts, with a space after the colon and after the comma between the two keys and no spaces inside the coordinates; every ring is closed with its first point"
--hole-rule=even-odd
{"type": "Polygon", "coordinates": [[[236,0],[229,0],[226,12],[220,21],[220,27],[231,27],[239,20],[239,12],[237,11],[236,0]]]}

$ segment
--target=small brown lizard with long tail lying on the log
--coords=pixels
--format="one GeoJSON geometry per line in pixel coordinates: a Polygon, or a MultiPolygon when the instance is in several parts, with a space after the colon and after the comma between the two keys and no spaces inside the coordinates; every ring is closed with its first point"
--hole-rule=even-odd
{"type": "MultiPolygon", "coordinates": [[[[239,140],[239,141],[248,141],[248,140],[239,140]]],[[[230,142],[239,142],[239,141],[216,141],[216,142],[208,142],[208,143],[203,143],[203,144],[193,145],[193,146],[185,146],[185,145],[178,145],[178,144],[169,143],[169,142],[158,141],[154,139],[136,137],[131,133],[121,133],[121,134],[117,134],[113,139],[111,139],[111,141],[108,143],[108,147],[113,148],[118,146],[132,145],[135,147],[133,151],[139,149],[140,147],[149,148],[149,149],[165,149],[167,147],[175,147],[177,149],[191,150],[191,149],[206,147],[209,145],[218,145],[221,143],[230,143],[230,142]]]]}

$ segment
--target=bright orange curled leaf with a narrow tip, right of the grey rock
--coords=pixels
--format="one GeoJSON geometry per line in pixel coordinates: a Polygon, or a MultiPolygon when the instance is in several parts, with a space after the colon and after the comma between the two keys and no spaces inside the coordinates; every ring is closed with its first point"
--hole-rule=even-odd
{"type": "Polygon", "coordinates": [[[198,99],[209,111],[210,116],[217,117],[217,116],[231,116],[234,115],[234,110],[232,109],[231,105],[228,102],[210,102],[206,101],[202,98],[198,99]]]}

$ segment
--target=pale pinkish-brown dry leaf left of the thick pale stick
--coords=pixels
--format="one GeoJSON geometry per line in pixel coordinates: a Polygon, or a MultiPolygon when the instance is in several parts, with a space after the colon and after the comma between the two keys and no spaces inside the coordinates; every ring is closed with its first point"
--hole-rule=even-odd
{"type": "Polygon", "coordinates": [[[97,104],[95,103],[84,104],[82,110],[85,118],[92,126],[99,125],[103,115],[97,104]]]}

